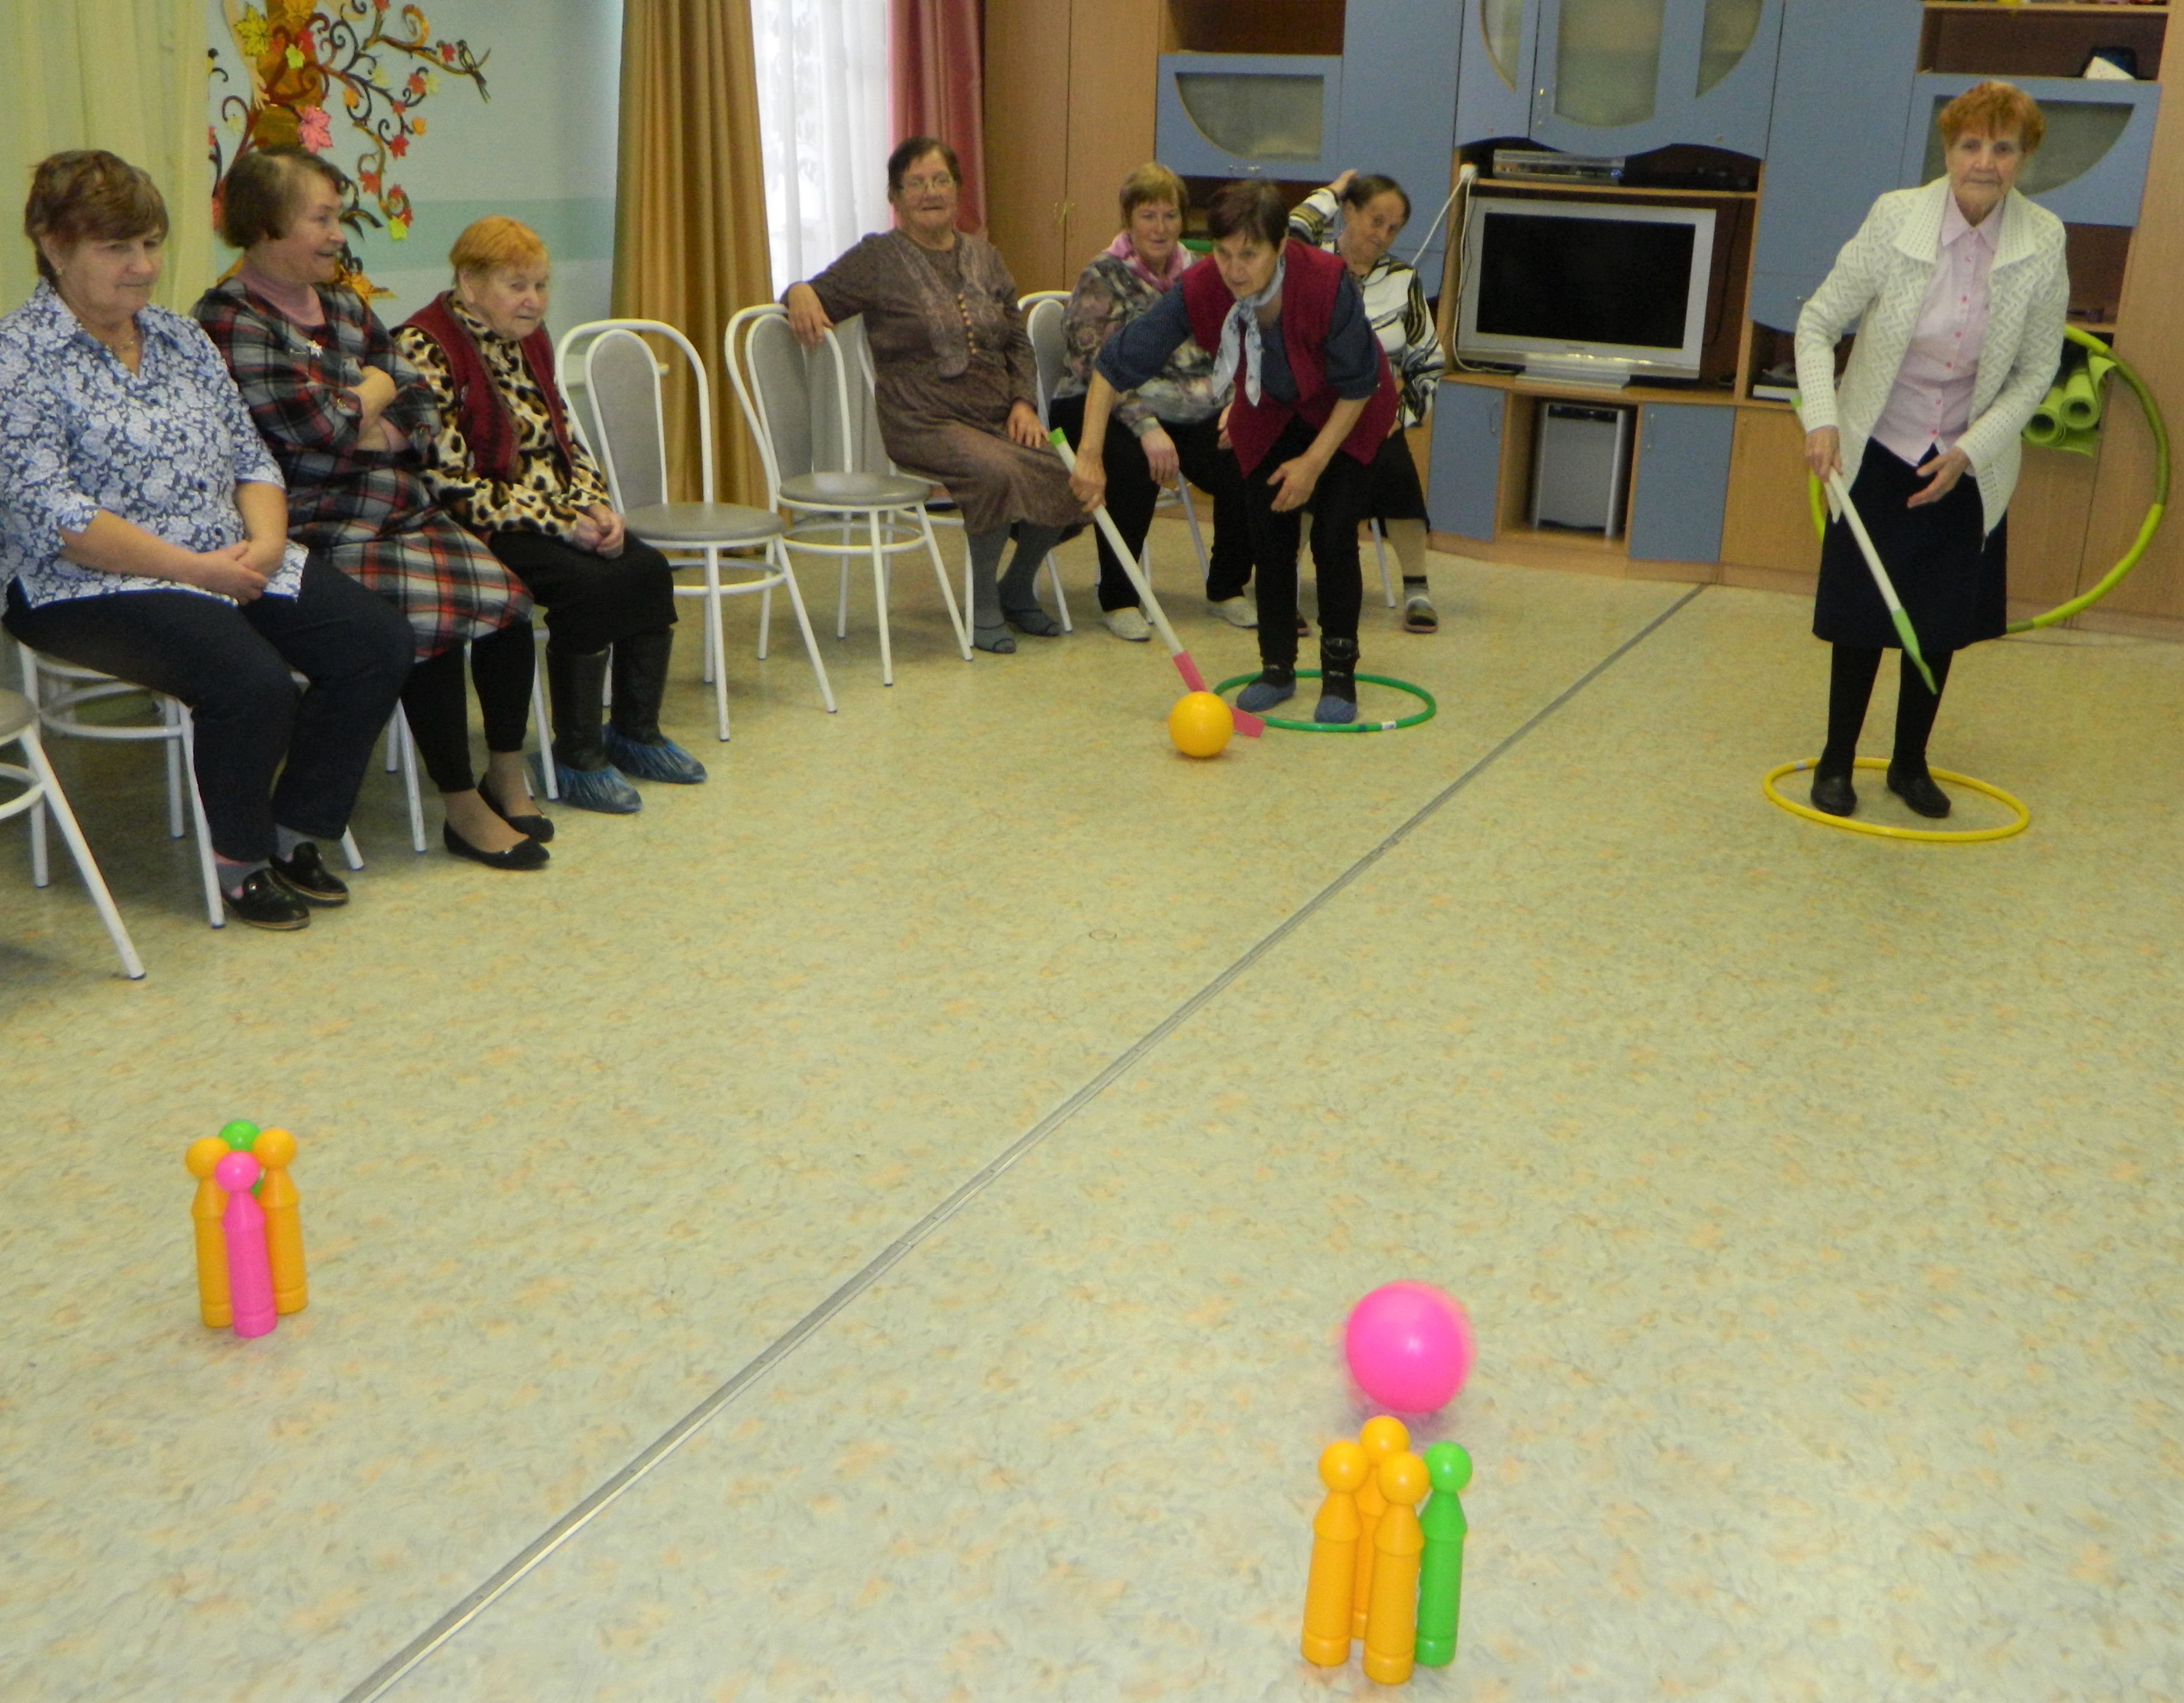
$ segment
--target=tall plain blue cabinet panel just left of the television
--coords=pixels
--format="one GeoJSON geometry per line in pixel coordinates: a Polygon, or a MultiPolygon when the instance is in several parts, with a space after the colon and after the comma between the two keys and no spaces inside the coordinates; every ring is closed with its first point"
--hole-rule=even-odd
{"type": "MultiPolygon", "coordinates": [[[[1411,196],[1396,258],[1411,260],[1448,196],[1457,138],[1461,0],[1350,0],[1343,13],[1343,100],[1337,170],[1387,172],[1411,196]]],[[[1332,177],[1332,172],[1330,172],[1332,177]]],[[[1448,225],[1413,262],[1426,295],[1441,293],[1448,225]]]]}

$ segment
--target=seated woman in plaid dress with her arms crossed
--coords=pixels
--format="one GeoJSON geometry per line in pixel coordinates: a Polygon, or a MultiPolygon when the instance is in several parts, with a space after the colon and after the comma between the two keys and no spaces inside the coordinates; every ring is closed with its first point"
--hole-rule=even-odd
{"type": "Polygon", "coordinates": [[[371,308],[334,286],[341,183],[301,148],[242,155],[221,199],[221,236],[242,264],[205,290],[197,321],[288,478],[288,535],[408,618],[417,664],[402,707],[448,812],[446,847],[491,869],[539,869],[553,825],[529,812],[522,769],[531,596],[426,489],[432,393],[371,308]],[[483,788],[470,766],[465,642],[485,720],[483,788]]]}

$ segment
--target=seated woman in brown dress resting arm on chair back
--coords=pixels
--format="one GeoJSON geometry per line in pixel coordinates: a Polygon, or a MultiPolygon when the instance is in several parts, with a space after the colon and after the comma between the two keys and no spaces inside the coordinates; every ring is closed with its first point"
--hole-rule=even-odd
{"type": "Polygon", "coordinates": [[[935,474],[970,535],[972,618],[981,651],[1013,651],[1009,627],[1055,638],[1035,574],[1085,511],[1033,406],[1031,338],[1016,282],[992,242],[959,231],[954,148],[913,135],[887,157],[895,229],[867,236],[782,297],[815,347],[828,325],[865,317],[887,454],[935,474]],[[1009,572],[996,570],[1016,528],[1009,572]]]}

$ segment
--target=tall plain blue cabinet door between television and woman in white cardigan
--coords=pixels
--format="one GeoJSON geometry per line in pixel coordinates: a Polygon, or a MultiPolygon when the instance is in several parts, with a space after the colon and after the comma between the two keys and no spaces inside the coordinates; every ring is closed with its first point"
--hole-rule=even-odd
{"type": "Polygon", "coordinates": [[[1782,20],[1752,317],[1793,330],[1874,196],[1902,183],[1918,7],[1797,0],[1782,20]]]}

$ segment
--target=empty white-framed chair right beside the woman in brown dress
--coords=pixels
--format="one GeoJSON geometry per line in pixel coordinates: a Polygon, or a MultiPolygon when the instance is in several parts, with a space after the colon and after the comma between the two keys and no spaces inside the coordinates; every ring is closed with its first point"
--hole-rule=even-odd
{"type": "MultiPolygon", "coordinates": [[[[841,592],[834,638],[850,635],[850,559],[871,559],[871,592],[880,622],[880,681],[895,683],[895,651],[887,620],[889,559],[902,550],[924,550],[933,561],[948,622],[954,627],[963,662],[970,662],[970,629],[957,609],[948,568],[926,502],[930,480],[871,465],[865,421],[850,404],[850,373],[841,338],[828,332],[819,349],[806,352],[788,330],[778,303],[745,308],[723,332],[727,376],[736,386],[743,419],[758,443],[767,472],[767,502],[791,513],[782,539],[791,550],[836,557],[841,592]],[[854,537],[863,522],[863,537],[854,537]],[[832,541],[823,537],[832,533],[832,541]]],[[[869,384],[860,386],[869,397],[869,384]]]]}

